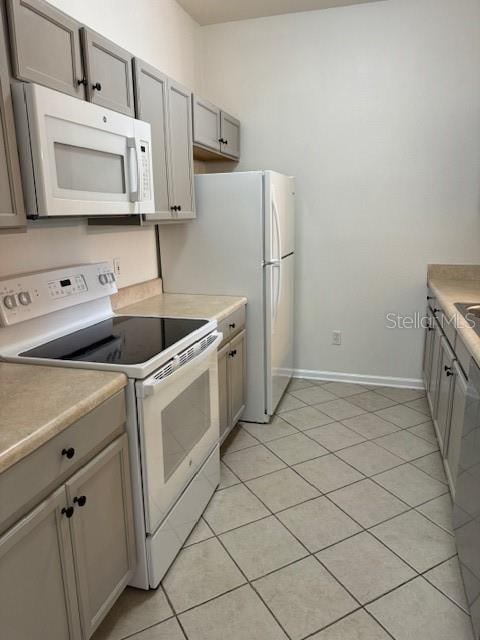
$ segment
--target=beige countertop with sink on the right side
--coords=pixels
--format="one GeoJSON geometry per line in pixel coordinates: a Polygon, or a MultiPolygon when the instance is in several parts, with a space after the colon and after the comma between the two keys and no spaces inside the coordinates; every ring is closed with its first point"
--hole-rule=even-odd
{"type": "Polygon", "coordinates": [[[458,335],[480,366],[480,336],[455,308],[456,302],[480,304],[480,265],[429,265],[428,284],[458,335]]]}

